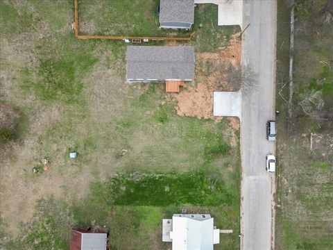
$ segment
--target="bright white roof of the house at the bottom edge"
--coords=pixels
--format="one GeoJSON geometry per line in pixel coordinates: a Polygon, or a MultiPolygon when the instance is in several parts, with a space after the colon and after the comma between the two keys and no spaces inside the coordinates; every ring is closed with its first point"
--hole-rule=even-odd
{"type": "Polygon", "coordinates": [[[172,249],[213,249],[214,219],[172,217],[172,249]]]}

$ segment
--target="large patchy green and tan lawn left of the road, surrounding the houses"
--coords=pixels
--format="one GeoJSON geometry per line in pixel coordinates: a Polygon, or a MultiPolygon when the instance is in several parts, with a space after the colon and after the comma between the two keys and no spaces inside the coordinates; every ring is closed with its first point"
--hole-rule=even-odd
{"type": "MultiPolygon", "coordinates": [[[[108,22],[135,5],[109,3],[80,1],[80,26],[105,35],[170,32],[155,27],[155,1],[137,7],[149,10],[143,16],[119,19],[124,26],[108,22]]],[[[0,248],[68,249],[71,228],[94,221],[109,228],[111,249],[168,249],[162,218],[187,208],[233,229],[216,249],[239,249],[240,153],[228,119],[180,117],[162,83],[124,83],[126,44],[76,40],[72,19],[72,1],[0,1],[0,101],[24,117],[1,151],[0,248]]],[[[196,7],[198,22],[199,52],[225,46],[234,32],[216,26],[213,5],[196,7]]]]}

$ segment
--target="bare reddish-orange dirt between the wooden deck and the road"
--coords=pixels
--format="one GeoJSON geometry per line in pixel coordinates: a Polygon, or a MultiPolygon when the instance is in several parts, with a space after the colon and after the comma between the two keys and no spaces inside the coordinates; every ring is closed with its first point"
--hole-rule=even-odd
{"type": "MultiPolygon", "coordinates": [[[[230,44],[218,53],[199,53],[196,56],[196,87],[187,84],[178,94],[171,94],[178,101],[177,113],[182,116],[216,119],[213,117],[213,91],[237,91],[237,86],[227,82],[232,67],[241,61],[241,41],[234,34],[230,44]]],[[[219,118],[221,119],[221,118],[219,118]]]]}

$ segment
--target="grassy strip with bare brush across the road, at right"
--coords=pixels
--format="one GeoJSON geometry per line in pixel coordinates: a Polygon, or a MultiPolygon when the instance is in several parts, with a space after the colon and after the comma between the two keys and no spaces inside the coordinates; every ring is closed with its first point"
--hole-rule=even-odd
{"type": "MultiPolygon", "coordinates": [[[[287,119],[287,104],[280,96],[277,107],[278,196],[276,249],[331,249],[332,231],[332,27],[324,25],[319,13],[326,1],[299,1],[296,8],[293,119],[287,119]],[[308,10],[310,10],[308,12],[308,10]],[[306,27],[302,29],[301,27],[306,27]],[[312,34],[308,30],[316,30],[312,34]],[[300,97],[320,90],[324,106],[317,114],[328,120],[311,119],[300,107],[300,97]],[[289,124],[288,124],[289,122],[289,124]],[[287,133],[282,133],[286,131],[287,133]],[[311,135],[312,134],[312,135],[311,135]],[[314,135],[316,134],[316,135],[314,135]]],[[[289,19],[287,1],[278,2],[277,92],[288,82],[289,19]]],[[[288,97],[288,86],[282,90],[288,97]]]]}

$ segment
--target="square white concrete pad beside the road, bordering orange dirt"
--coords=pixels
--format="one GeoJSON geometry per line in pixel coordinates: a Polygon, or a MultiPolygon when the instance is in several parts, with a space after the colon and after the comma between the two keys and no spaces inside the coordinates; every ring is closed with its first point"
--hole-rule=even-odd
{"type": "Polygon", "coordinates": [[[214,92],[213,115],[241,119],[241,92],[214,92]]]}

